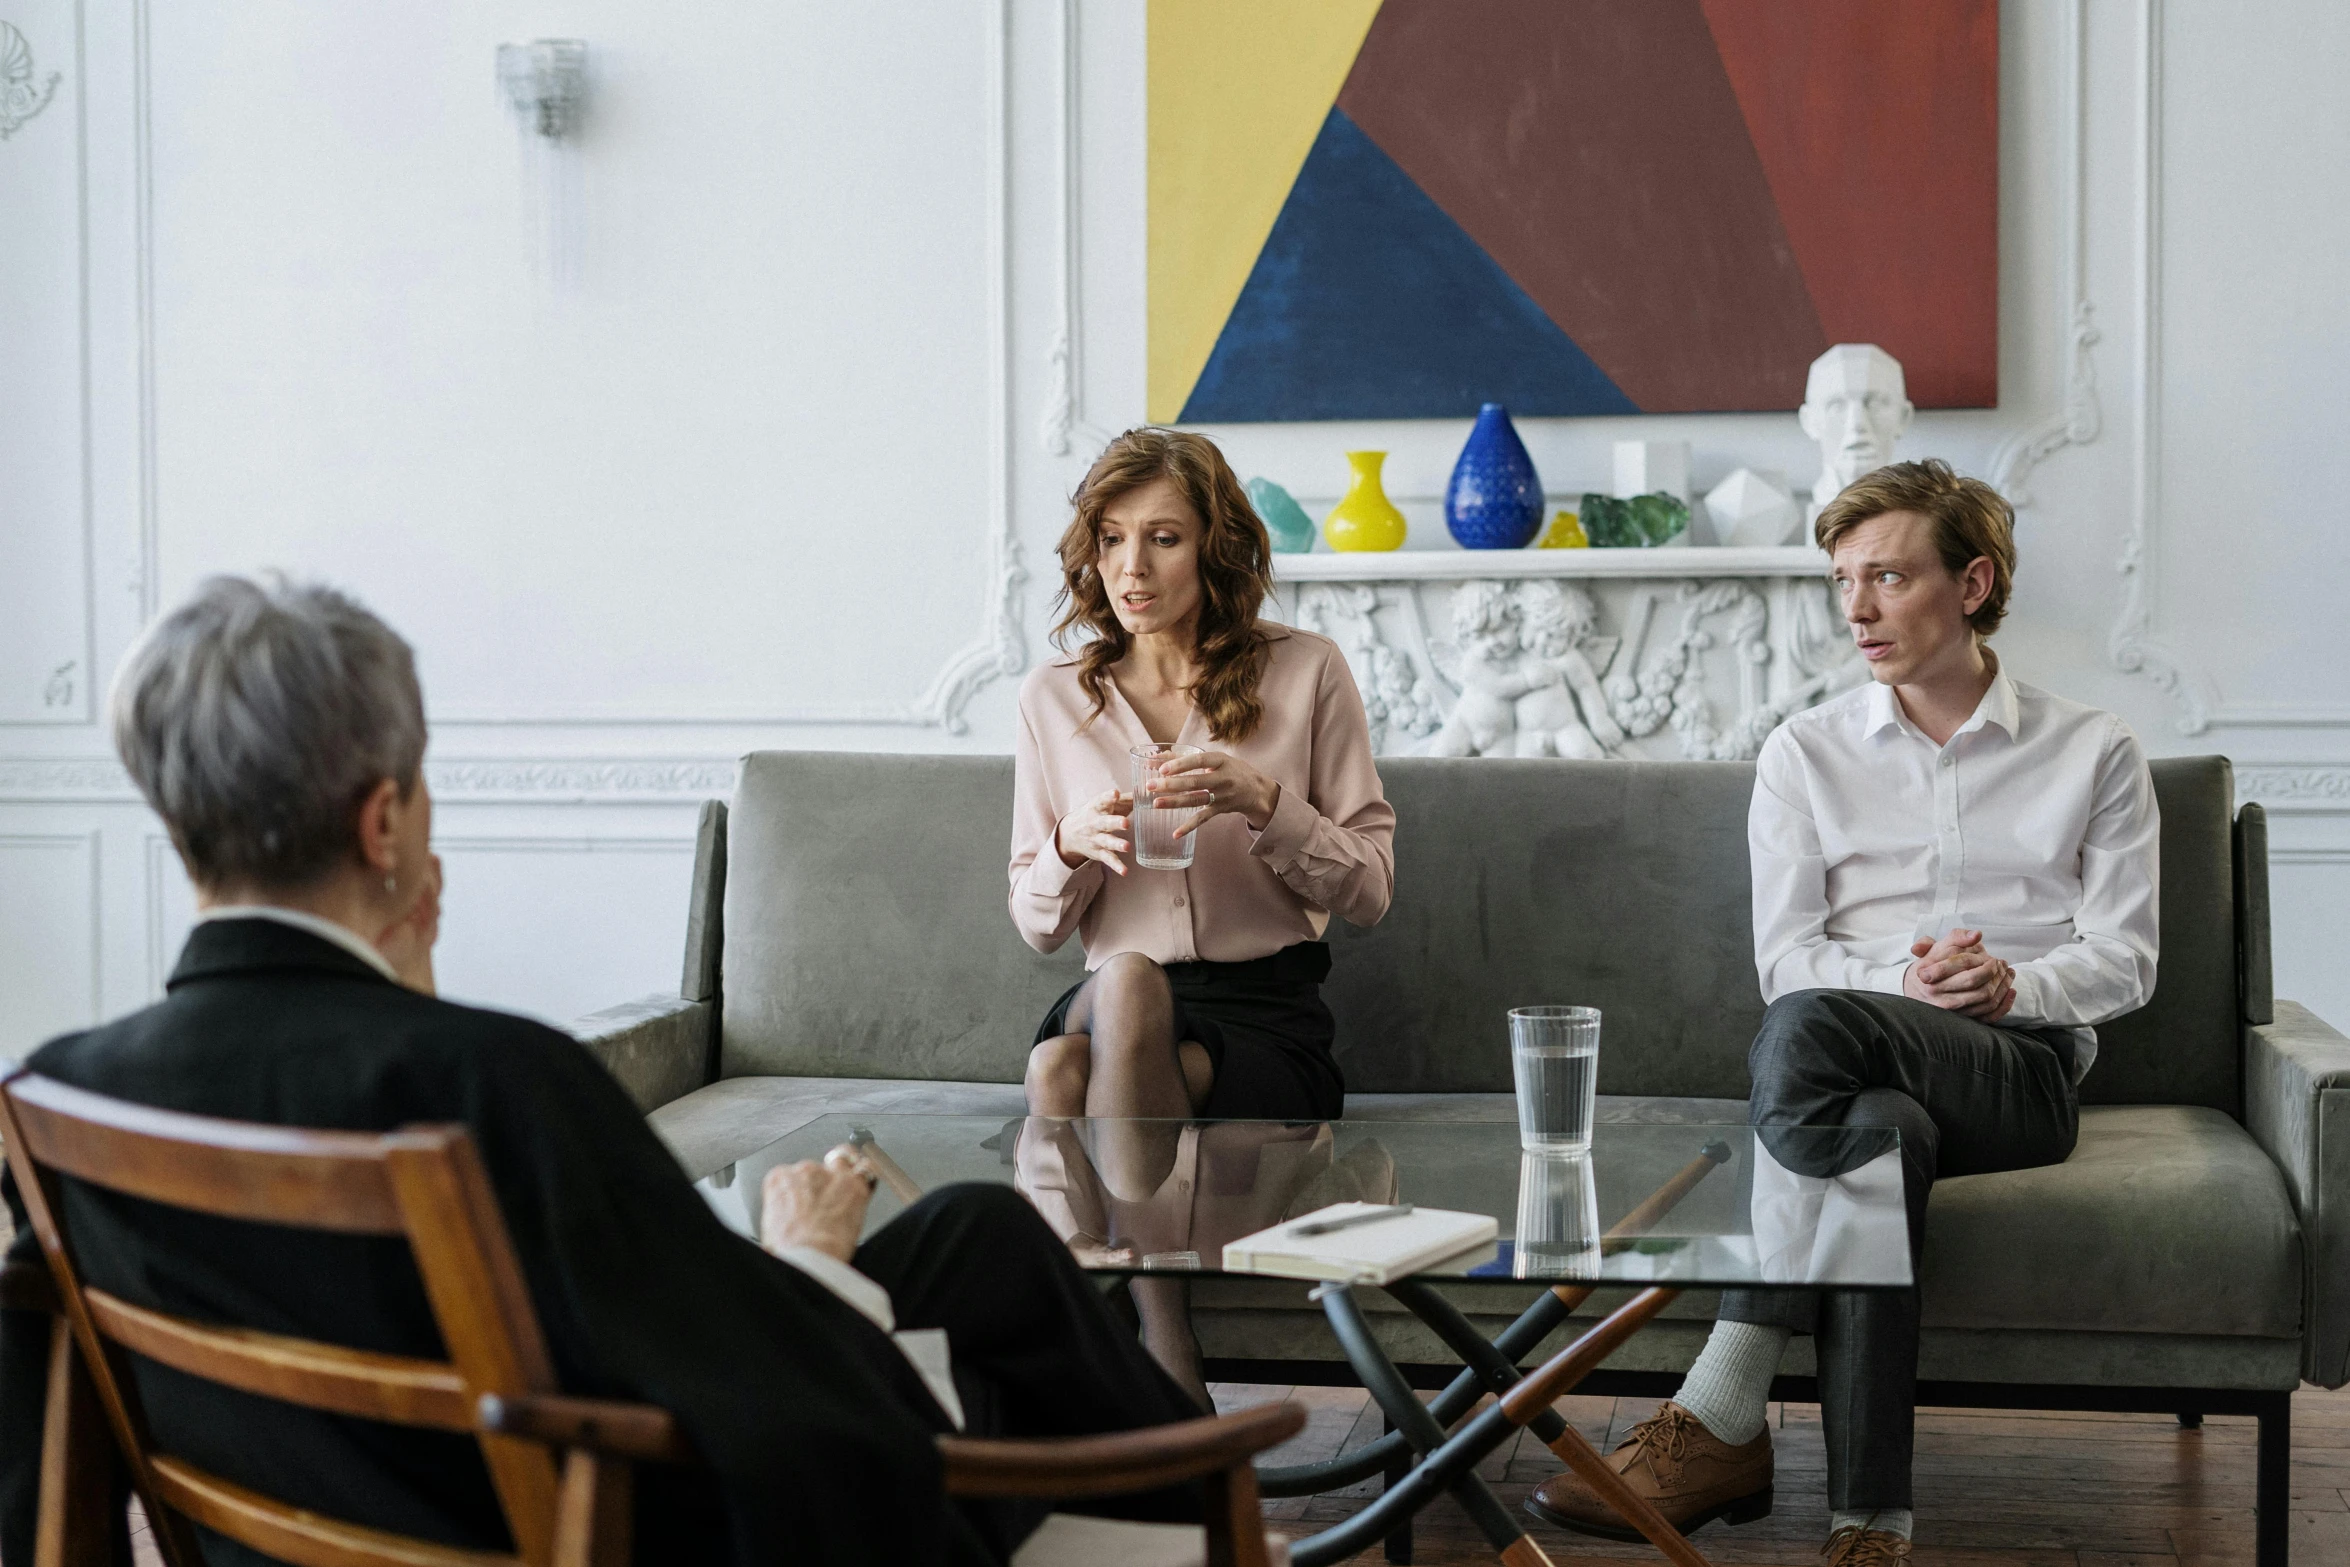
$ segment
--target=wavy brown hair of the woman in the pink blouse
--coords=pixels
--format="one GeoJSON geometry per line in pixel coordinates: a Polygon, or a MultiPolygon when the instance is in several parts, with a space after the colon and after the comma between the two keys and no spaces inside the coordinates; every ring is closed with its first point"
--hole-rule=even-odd
{"type": "Polygon", "coordinates": [[[1191,648],[1198,674],[1191,681],[1191,705],[1208,721],[1208,733],[1231,745],[1253,735],[1264,719],[1257,681],[1271,658],[1271,637],[1257,627],[1257,608],[1274,590],[1274,540],[1231,463],[1206,435],[1152,425],[1128,430],[1086,470],[1072,496],[1076,517],[1060,536],[1060,594],[1053,601],[1067,608],[1053,625],[1053,646],[1067,648],[1069,632],[1090,632],[1076,648],[1076,679],[1093,698],[1093,714],[1086,719],[1093,724],[1109,702],[1109,667],[1128,648],[1126,627],[1102,585],[1102,512],[1152,479],[1173,479],[1206,524],[1198,540],[1201,606],[1191,648]]]}

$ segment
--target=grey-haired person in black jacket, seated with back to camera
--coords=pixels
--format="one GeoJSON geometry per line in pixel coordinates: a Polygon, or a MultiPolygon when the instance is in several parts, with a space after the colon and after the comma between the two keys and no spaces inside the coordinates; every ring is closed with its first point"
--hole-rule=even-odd
{"type": "MultiPolygon", "coordinates": [[[[639,1560],[1006,1562],[1041,1504],[949,1501],[935,1438],[1090,1435],[1194,1410],[1036,1212],[945,1186],[860,1243],[860,1156],[768,1172],[728,1231],[588,1050],[432,994],[439,862],[416,658],[348,594],[214,578],[115,681],[115,742],[195,881],[167,996],[31,1069],[298,1128],[463,1123],[566,1391],[672,1410],[705,1468],[637,1480],[639,1560]],[[893,1334],[942,1330],[952,1372],[893,1334]]],[[[14,1184],[9,1262],[40,1266],[14,1184]]],[[[89,1198],[87,1283],[153,1311],[439,1358],[402,1240],[89,1198]]],[[[49,1318],[0,1311],[0,1558],[33,1560],[49,1318]]],[[[512,1551],[475,1442],[136,1367],[157,1450],[348,1522],[512,1551]]],[[[1191,1492],[1128,1511],[1196,1518],[1191,1492]]],[[[204,1536],[204,1560],[261,1562],[204,1536]]]]}

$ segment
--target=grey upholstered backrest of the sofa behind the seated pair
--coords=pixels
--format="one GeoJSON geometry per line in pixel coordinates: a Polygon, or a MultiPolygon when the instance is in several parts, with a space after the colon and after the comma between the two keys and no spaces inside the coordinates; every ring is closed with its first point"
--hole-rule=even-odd
{"type": "MultiPolygon", "coordinates": [[[[2265,942],[2265,909],[2235,909],[2228,761],[2153,773],[2160,987],[2099,1029],[2082,1092],[2237,1114],[2240,940],[2265,942]]],[[[1370,930],[1330,926],[1323,987],[1351,1090],[1506,1092],[1506,1008],[1577,1001],[1607,1013],[1603,1092],[1746,1095],[1751,764],[1382,756],[1379,775],[1396,902],[1370,930]]],[[[1018,1083],[1081,966],[1074,940],[1046,959],[1013,933],[1010,799],[1008,756],[747,756],[726,874],[703,879],[724,921],[698,923],[724,928],[721,1076],[1018,1083]]]]}

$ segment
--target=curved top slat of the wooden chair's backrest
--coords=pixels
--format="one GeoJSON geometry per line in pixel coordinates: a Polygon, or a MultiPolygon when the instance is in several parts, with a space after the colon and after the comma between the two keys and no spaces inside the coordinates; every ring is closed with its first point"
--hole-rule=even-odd
{"type": "Polygon", "coordinates": [[[33,1074],[9,1097],[26,1151],[92,1186],[223,1219],[402,1233],[378,1137],[183,1116],[33,1074]]]}

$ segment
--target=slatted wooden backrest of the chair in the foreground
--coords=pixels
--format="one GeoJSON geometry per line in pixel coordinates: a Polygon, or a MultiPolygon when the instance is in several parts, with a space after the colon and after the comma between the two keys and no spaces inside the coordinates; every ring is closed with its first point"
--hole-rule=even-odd
{"type": "Polygon", "coordinates": [[[580,1551],[576,1529],[557,1525],[559,1501],[580,1506],[569,1494],[580,1485],[569,1464],[559,1473],[548,1442],[484,1426],[484,1395],[496,1412],[494,1400],[555,1395],[557,1386],[505,1219],[465,1128],[364,1135],[249,1125],[127,1104],[31,1071],[0,1083],[0,1128],[59,1306],[172,1567],[202,1562],[188,1520],[263,1555],[317,1567],[552,1567],[559,1534],[566,1555],[580,1551]],[[404,1236],[449,1360],[195,1323],[87,1285],[63,1229],[61,1177],[226,1219],[404,1236]],[[258,1398],[475,1435],[515,1553],[320,1518],[160,1452],[127,1353],[258,1398]]]}

